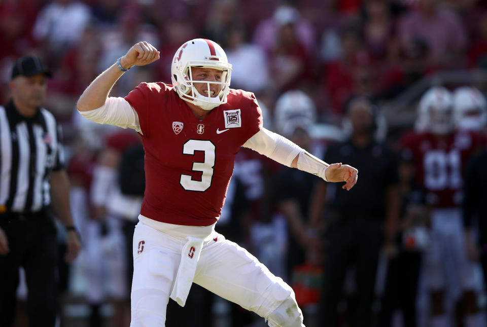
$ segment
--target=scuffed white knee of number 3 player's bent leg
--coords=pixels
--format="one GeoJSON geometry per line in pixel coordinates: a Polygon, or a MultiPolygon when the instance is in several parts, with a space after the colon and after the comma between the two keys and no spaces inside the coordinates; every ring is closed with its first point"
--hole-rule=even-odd
{"type": "Polygon", "coordinates": [[[303,313],[298,307],[294,293],[291,293],[266,319],[269,327],[304,327],[303,313]]]}

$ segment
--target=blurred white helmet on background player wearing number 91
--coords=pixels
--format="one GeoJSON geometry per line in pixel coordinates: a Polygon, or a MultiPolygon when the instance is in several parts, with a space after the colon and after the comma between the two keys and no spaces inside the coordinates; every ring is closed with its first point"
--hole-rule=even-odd
{"type": "Polygon", "coordinates": [[[448,134],[454,129],[453,96],[442,86],[429,89],[418,105],[415,129],[433,134],[448,134]]]}

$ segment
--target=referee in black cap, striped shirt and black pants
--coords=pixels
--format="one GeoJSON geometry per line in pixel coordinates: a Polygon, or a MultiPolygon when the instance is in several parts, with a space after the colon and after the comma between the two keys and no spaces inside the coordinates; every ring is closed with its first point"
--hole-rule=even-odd
{"type": "Polygon", "coordinates": [[[30,326],[54,326],[57,241],[49,207],[67,230],[66,261],[80,250],[69,207],[60,129],[41,107],[51,73],[36,56],[17,60],[12,99],[0,106],[0,326],[15,319],[19,267],[25,270],[30,326]]]}

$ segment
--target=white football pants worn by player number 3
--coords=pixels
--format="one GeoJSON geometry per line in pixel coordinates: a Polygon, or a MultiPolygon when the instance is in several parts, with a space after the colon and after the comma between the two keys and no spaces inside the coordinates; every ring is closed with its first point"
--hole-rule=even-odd
{"type": "MultiPolygon", "coordinates": [[[[187,235],[204,238],[193,282],[256,312],[268,320],[270,326],[304,326],[292,288],[271,274],[247,250],[226,240],[214,229],[208,229],[212,228],[210,226],[180,227],[181,230],[209,231],[206,236],[187,235]]],[[[173,230],[162,232],[142,222],[135,227],[131,327],[164,326],[166,305],[185,244],[185,237],[173,230]]],[[[187,255],[191,256],[191,251],[187,255]]]]}

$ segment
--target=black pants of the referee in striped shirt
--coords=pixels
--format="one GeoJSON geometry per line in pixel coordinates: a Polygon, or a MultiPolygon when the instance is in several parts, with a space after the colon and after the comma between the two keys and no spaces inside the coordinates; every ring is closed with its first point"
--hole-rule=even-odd
{"type": "Polygon", "coordinates": [[[10,252],[0,256],[0,326],[13,325],[19,267],[25,270],[27,314],[31,327],[55,325],[57,310],[57,241],[54,222],[45,212],[0,214],[10,252]]]}

